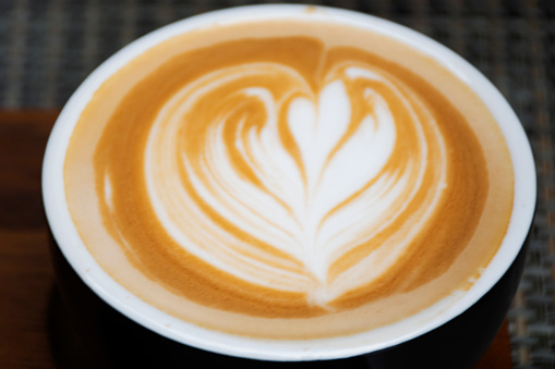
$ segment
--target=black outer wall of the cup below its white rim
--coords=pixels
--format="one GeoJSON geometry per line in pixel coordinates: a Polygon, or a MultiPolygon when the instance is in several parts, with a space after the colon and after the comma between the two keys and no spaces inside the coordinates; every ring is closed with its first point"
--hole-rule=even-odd
{"type": "MultiPolygon", "coordinates": [[[[516,294],[529,237],[503,278],[479,302],[439,328],[406,343],[351,358],[322,361],[261,361],[209,353],[162,337],[124,317],[101,300],[79,278],[53,237],[51,255],[57,278],[52,348],[60,368],[183,368],[191,360],[242,368],[471,368],[494,341],[516,294]],[[56,318],[57,317],[57,318],[56,318]],[[75,334],[81,355],[68,357],[68,336],[75,334]]],[[[185,366],[186,367],[186,366],[185,366]]]]}

